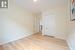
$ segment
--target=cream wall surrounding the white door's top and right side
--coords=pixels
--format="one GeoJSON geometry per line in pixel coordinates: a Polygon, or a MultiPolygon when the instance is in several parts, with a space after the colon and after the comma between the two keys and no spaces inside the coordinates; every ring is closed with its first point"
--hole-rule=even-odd
{"type": "MultiPolygon", "coordinates": [[[[66,1],[64,1],[66,2],[66,1]]],[[[57,5],[56,7],[42,12],[42,15],[54,15],[56,19],[56,38],[66,39],[67,34],[67,5],[57,5]]]]}

